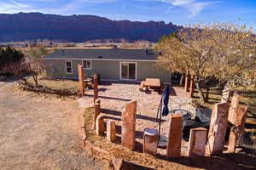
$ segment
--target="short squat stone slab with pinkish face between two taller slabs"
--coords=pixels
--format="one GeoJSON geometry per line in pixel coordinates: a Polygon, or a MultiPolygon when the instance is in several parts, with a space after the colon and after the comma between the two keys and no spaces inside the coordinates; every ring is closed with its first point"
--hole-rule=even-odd
{"type": "Polygon", "coordinates": [[[204,156],[207,142],[207,129],[191,128],[189,135],[188,156],[204,156]]]}

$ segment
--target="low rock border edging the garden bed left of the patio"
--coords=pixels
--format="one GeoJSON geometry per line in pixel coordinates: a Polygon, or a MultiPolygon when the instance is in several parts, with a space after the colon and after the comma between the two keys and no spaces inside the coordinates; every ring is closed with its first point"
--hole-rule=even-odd
{"type": "Polygon", "coordinates": [[[28,83],[28,82],[27,83],[18,82],[18,87],[26,91],[32,91],[32,92],[44,93],[44,94],[57,94],[61,96],[79,95],[79,92],[77,89],[49,88],[47,86],[36,87],[32,83],[28,83]]]}

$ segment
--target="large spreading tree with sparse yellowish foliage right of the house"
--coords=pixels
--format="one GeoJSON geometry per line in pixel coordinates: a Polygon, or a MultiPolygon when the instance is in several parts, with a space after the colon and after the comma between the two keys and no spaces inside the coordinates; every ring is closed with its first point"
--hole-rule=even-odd
{"type": "Polygon", "coordinates": [[[162,37],[155,48],[162,52],[160,67],[195,75],[201,103],[205,102],[201,85],[207,77],[218,77],[228,85],[255,71],[255,37],[245,26],[217,23],[190,27],[162,37]]]}

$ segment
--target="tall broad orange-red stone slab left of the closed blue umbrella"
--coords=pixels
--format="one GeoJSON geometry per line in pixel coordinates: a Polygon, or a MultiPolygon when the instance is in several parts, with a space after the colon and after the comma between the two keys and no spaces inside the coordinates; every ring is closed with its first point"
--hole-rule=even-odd
{"type": "Polygon", "coordinates": [[[121,144],[129,150],[134,150],[136,139],[136,116],[137,100],[133,100],[125,105],[122,112],[122,141],[121,144]]]}

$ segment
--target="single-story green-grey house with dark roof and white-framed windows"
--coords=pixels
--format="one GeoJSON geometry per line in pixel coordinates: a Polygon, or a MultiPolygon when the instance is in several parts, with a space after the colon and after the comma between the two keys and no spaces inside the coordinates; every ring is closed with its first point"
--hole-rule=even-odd
{"type": "Polygon", "coordinates": [[[150,77],[171,82],[171,72],[157,67],[157,56],[148,49],[57,49],[44,59],[49,65],[48,77],[78,79],[80,64],[87,77],[100,74],[102,81],[141,82],[150,77]]]}

